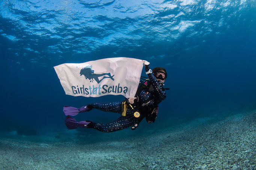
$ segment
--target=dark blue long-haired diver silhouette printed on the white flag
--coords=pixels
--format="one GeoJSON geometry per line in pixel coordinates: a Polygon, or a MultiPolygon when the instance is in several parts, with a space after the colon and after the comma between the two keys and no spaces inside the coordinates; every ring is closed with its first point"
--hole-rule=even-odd
{"type": "Polygon", "coordinates": [[[114,75],[111,76],[110,72],[109,73],[103,73],[103,74],[94,74],[94,70],[91,69],[92,66],[88,65],[86,67],[83,67],[80,71],[80,75],[84,75],[85,79],[89,79],[90,82],[93,82],[93,79],[99,84],[100,81],[102,81],[104,78],[111,78],[111,80],[115,80],[113,77],[114,75]],[[109,77],[104,76],[101,80],[99,80],[99,77],[103,75],[108,75],[109,77]]]}

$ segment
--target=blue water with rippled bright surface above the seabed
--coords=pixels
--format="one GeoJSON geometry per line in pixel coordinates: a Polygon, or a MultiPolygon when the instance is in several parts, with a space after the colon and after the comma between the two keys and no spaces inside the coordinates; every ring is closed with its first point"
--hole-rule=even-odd
{"type": "Polygon", "coordinates": [[[63,106],[123,100],[67,96],[53,69],[122,56],[168,72],[153,129],[255,106],[255,49],[254,0],[1,0],[1,130],[65,129],[63,106]]]}

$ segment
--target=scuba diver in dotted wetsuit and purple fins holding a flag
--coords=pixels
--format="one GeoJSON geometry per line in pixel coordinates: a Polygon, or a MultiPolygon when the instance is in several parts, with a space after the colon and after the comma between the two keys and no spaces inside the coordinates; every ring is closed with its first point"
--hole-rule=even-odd
{"type": "Polygon", "coordinates": [[[165,89],[162,86],[167,78],[167,72],[161,67],[151,70],[150,63],[147,61],[144,61],[144,66],[149,79],[139,82],[134,98],[127,98],[122,102],[108,104],[89,104],[81,108],[64,106],[63,111],[67,115],[65,120],[67,128],[87,127],[101,132],[114,132],[130,126],[132,126],[132,130],[135,130],[144,117],[146,117],[148,123],[154,122],[157,117],[158,104],[166,98],[165,89]],[[90,111],[91,109],[116,112],[121,114],[121,117],[108,124],[94,123],[88,120],[77,122],[74,118],[70,117],[77,115],[79,112],[90,111]]]}

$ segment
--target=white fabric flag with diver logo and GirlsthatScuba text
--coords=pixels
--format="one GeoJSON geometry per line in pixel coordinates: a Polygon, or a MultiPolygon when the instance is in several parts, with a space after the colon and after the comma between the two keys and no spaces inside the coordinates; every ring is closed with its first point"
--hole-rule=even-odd
{"type": "Polygon", "coordinates": [[[120,57],[61,64],[54,69],[66,95],[131,98],[138,89],[143,63],[140,59],[120,57]]]}

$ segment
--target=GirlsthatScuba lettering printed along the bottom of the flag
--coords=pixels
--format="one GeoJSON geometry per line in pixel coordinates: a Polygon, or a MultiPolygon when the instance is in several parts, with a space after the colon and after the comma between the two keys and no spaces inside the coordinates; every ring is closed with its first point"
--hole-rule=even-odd
{"type": "Polygon", "coordinates": [[[84,85],[82,87],[79,87],[79,86],[71,86],[72,88],[72,91],[73,91],[73,94],[76,95],[76,94],[84,94],[84,95],[101,95],[102,94],[105,94],[105,93],[126,93],[128,91],[128,87],[121,87],[120,84],[118,83],[118,86],[108,86],[108,85],[103,85],[102,87],[100,87],[100,85],[98,87],[91,87],[89,86],[88,88],[87,87],[84,87],[84,85]]]}

